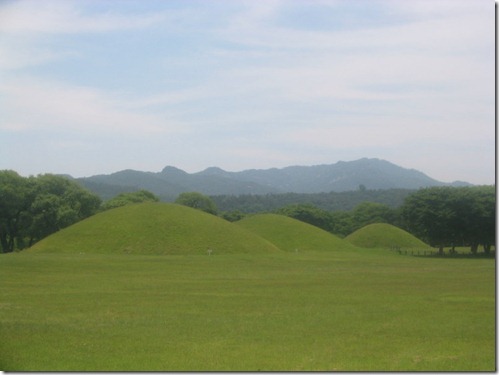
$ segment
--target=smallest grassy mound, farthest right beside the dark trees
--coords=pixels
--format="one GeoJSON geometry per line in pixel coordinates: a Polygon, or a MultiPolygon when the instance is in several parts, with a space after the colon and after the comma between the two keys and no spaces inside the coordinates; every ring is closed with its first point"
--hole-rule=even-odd
{"type": "Polygon", "coordinates": [[[367,248],[430,248],[405,230],[385,223],[366,225],[345,237],[345,240],[355,246],[367,248]]]}

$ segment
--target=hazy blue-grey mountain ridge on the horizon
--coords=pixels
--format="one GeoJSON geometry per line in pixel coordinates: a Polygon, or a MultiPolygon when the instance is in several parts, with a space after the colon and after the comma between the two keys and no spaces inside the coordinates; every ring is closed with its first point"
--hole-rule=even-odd
{"type": "Polygon", "coordinates": [[[163,200],[186,191],[207,195],[321,193],[366,189],[419,189],[429,186],[467,186],[466,182],[444,183],[424,173],[381,159],[363,158],[335,164],[249,169],[227,172],[210,167],[187,173],[173,166],[161,172],[123,170],[108,175],[76,179],[83,186],[109,199],[121,192],[146,189],[163,200]]]}

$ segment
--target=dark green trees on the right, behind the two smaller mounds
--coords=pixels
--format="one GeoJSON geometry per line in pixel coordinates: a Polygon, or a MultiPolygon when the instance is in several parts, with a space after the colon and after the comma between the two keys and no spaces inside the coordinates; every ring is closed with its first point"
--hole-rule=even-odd
{"type": "Polygon", "coordinates": [[[496,239],[495,187],[432,187],[408,195],[403,205],[362,202],[350,211],[327,211],[311,204],[293,204],[273,212],[347,236],[373,223],[401,227],[431,246],[482,245],[486,253],[496,239]]]}

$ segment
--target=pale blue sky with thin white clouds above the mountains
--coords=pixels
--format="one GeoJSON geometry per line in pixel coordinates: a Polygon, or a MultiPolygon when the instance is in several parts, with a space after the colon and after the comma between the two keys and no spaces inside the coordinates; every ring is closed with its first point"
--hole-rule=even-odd
{"type": "Polygon", "coordinates": [[[495,183],[493,0],[0,0],[0,170],[388,160],[495,183]]]}

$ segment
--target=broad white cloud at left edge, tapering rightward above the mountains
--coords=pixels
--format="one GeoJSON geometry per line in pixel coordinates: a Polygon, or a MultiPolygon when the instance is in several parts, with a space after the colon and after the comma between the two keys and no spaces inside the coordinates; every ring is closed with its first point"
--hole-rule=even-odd
{"type": "Polygon", "coordinates": [[[178,134],[185,124],[165,114],[130,109],[129,99],[89,87],[39,79],[12,79],[0,89],[0,129],[72,131],[76,134],[151,136],[178,134]]]}

